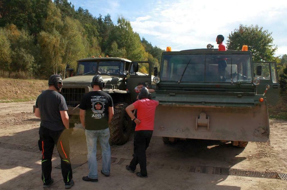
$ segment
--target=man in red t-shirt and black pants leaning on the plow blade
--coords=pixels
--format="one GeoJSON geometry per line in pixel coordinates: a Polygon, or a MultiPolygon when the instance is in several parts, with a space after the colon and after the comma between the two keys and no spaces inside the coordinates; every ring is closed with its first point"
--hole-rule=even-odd
{"type": "Polygon", "coordinates": [[[136,175],[141,178],[147,177],[146,171],[146,148],[149,147],[150,139],[154,128],[155,108],[159,102],[151,99],[152,95],[146,87],[141,89],[138,95],[138,100],[126,107],[126,112],[129,114],[135,123],[134,137],[134,154],[133,159],[126,169],[130,172],[135,172],[138,164],[140,164],[141,172],[136,175]],[[133,114],[133,110],[137,109],[137,118],[133,114]]]}

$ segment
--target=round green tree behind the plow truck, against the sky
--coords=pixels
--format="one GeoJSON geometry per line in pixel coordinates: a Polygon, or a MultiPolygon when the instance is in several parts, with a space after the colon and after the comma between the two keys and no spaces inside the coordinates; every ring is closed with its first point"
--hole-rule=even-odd
{"type": "Polygon", "coordinates": [[[258,25],[240,24],[238,29],[229,34],[226,45],[231,50],[241,50],[242,45],[248,45],[254,61],[272,61],[277,46],[273,47],[271,34],[258,25]]]}

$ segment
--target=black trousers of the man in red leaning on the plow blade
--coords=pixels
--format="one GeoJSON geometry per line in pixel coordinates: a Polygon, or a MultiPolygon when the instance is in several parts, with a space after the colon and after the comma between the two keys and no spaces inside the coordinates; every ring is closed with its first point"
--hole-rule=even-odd
{"type": "Polygon", "coordinates": [[[134,138],[134,154],[129,167],[135,170],[137,165],[140,164],[141,174],[147,176],[146,171],[146,148],[149,147],[150,139],[152,138],[152,132],[149,130],[135,131],[134,138]]]}

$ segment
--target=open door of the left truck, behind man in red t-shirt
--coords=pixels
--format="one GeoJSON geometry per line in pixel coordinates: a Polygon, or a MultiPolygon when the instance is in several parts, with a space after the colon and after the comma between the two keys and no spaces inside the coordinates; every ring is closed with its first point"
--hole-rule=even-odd
{"type": "Polygon", "coordinates": [[[138,96],[138,83],[145,82],[148,88],[152,87],[152,69],[151,62],[148,61],[138,61],[131,62],[129,65],[129,74],[126,80],[126,87],[131,93],[132,101],[135,102],[138,96]],[[138,64],[138,72],[134,72],[134,64],[138,64]]]}

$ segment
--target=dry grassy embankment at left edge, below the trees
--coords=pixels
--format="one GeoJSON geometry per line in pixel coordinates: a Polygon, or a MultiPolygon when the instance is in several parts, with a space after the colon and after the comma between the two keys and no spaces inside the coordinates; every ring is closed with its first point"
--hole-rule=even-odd
{"type": "Polygon", "coordinates": [[[47,88],[47,80],[0,78],[0,103],[33,101],[47,88]]]}

